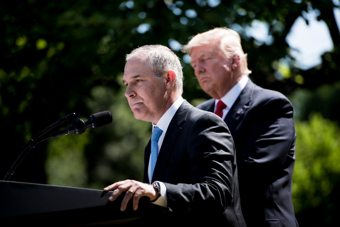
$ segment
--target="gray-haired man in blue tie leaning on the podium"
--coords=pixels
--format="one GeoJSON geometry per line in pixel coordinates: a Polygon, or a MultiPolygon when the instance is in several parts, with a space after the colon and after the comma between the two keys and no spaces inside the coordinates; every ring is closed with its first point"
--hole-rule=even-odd
{"type": "Polygon", "coordinates": [[[182,98],[179,58],[162,45],[146,45],[126,55],[125,96],[136,119],[153,125],[145,148],[146,183],[123,180],[104,191],[124,196],[134,210],[150,198],[136,224],[245,226],[240,207],[234,141],[224,121],[182,98]]]}

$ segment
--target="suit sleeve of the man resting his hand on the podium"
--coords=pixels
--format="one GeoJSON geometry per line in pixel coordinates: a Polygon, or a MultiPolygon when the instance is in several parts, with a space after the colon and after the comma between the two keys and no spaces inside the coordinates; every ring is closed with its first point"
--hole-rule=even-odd
{"type": "Polygon", "coordinates": [[[232,200],[235,180],[231,133],[224,121],[209,112],[195,120],[187,119],[181,133],[176,144],[187,157],[189,180],[165,183],[168,208],[180,212],[223,212],[232,200]]]}

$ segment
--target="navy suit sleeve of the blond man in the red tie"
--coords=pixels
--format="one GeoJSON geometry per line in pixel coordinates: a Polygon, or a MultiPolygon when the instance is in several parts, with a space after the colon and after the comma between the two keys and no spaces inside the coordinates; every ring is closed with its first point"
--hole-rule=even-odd
{"type": "MultiPolygon", "coordinates": [[[[268,97],[268,95],[267,95],[268,97]]],[[[243,189],[264,191],[294,162],[295,128],[293,107],[282,96],[259,99],[243,119],[242,134],[234,136],[240,150],[238,174],[243,189]]]]}

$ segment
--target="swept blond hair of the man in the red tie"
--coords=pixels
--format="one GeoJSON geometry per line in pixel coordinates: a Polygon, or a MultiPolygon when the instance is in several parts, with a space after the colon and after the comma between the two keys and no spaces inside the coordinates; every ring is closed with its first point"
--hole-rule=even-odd
{"type": "Polygon", "coordinates": [[[220,44],[219,48],[224,52],[227,59],[233,58],[235,55],[240,56],[240,69],[242,74],[249,76],[251,70],[248,69],[247,54],[243,52],[241,46],[240,35],[229,28],[221,27],[214,28],[209,31],[199,33],[192,37],[187,45],[182,47],[182,52],[191,55],[191,50],[193,47],[202,45],[215,45],[218,42],[220,44]]]}

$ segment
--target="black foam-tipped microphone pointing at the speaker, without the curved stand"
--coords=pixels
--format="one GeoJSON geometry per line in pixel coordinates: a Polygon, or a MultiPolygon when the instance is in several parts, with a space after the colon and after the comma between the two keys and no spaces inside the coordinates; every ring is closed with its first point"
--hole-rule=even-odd
{"type": "Polygon", "coordinates": [[[51,135],[50,138],[59,137],[62,135],[67,135],[70,133],[77,133],[82,134],[86,131],[87,128],[99,128],[103,125],[107,125],[112,122],[112,115],[110,111],[102,111],[99,113],[92,114],[89,118],[85,121],[82,119],[75,119],[71,126],[67,127],[66,129],[60,130],[51,135]]]}

